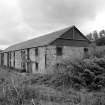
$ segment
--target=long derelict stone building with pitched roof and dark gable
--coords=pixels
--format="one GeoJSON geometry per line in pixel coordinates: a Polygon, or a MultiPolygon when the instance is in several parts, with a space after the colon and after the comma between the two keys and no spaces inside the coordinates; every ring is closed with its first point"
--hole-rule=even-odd
{"type": "Polygon", "coordinates": [[[8,47],[0,53],[0,65],[31,73],[46,73],[62,59],[82,58],[89,40],[75,27],[8,47]]]}

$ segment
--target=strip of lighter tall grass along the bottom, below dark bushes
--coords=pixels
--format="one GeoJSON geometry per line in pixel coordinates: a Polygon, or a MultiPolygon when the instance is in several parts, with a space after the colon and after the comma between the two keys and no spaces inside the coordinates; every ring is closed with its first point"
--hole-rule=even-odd
{"type": "MultiPolygon", "coordinates": [[[[6,81],[3,80],[2,84],[6,81]]],[[[48,87],[32,88],[30,86],[11,86],[5,83],[3,95],[0,96],[0,105],[104,105],[105,91],[87,92],[58,91],[48,87]]]]}

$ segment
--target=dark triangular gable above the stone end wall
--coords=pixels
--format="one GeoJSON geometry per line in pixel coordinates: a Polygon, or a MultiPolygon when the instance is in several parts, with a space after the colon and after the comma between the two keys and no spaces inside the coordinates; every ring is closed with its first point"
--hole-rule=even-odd
{"type": "Polygon", "coordinates": [[[90,41],[75,27],[68,29],[63,35],[55,39],[50,45],[88,46],[90,41]]]}

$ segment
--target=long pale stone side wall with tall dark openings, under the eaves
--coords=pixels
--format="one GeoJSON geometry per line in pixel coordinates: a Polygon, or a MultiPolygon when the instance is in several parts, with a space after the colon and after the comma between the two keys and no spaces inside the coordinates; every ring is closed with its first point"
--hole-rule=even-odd
{"type": "Polygon", "coordinates": [[[38,47],[38,56],[35,54],[36,48],[29,48],[24,50],[8,52],[9,62],[7,59],[7,53],[4,53],[4,64],[10,68],[23,70],[30,73],[44,73],[45,71],[45,47],[38,47]],[[29,50],[29,58],[28,58],[29,50]],[[38,64],[38,70],[36,69],[36,63],[38,64]]]}

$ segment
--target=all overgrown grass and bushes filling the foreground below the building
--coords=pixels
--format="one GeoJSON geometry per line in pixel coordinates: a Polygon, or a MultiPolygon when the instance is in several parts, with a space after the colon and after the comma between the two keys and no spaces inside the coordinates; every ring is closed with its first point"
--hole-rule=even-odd
{"type": "Polygon", "coordinates": [[[0,93],[0,105],[105,105],[104,55],[62,61],[51,74],[2,77],[0,93]]]}

